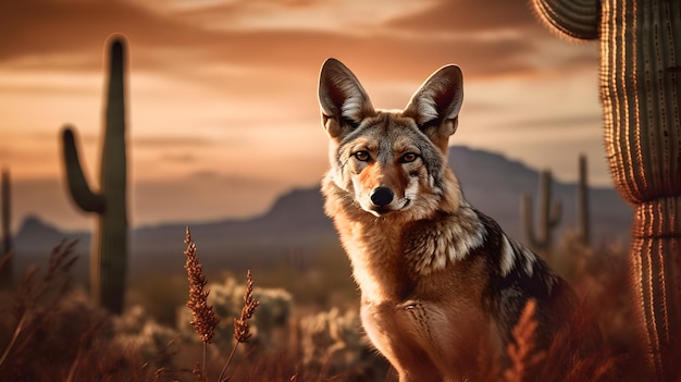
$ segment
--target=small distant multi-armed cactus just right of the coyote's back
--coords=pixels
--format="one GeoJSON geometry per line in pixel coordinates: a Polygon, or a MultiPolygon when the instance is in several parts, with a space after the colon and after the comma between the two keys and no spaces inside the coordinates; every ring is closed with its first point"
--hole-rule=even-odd
{"type": "Polygon", "coordinates": [[[553,248],[553,231],[558,226],[561,217],[560,200],[552,200],[552,174],[550,171],[542,171],[540,176],[538,195],[538,226],[537,233],[534,231],[534,219],[532,211],[532,196],[522,196],[521,217],[524,222],[525,238],[528,245],[543,256],[549,256],[553,248]]]}

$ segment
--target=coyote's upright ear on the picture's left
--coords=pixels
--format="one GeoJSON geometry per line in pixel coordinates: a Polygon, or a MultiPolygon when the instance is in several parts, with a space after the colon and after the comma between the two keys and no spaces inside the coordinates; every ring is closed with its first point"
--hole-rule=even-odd
{"type": "Polygon", "coordinates": [[[329,59],[319,78],[319,103],[322,123],[332,138],[351,132],[375,110],[359,81],[340,61],[329,59]]]}

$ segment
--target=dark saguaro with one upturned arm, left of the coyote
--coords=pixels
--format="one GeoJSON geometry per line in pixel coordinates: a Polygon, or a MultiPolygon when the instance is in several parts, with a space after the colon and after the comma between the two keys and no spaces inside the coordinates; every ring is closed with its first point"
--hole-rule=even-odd
{"type": "Polygon", "coordinates": [[[127,260],[124,66],[125,39],[110,38],[111,56],[99,192],[83,174],[74,134],[63,131],[64,164],[75,204],[97,214],[90,256],[90,288],[95,303],[114,313],[123,310],[127,260]]]}

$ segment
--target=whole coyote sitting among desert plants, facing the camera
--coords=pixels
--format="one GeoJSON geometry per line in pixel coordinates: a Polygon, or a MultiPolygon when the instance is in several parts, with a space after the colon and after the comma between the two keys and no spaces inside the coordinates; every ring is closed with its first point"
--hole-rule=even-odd
{"type": "Polygon", "coordinates": [[[432,74],[404,110],[374,109],[335,59],[320,74],[324,209],[361,289],[362,325],[400,382],[465,378],[481,342],[505,354],[531,298],[545,346],[577,304],[542,259],[463,198],[446,159],[462,97],[456,65],[432,74]]]}

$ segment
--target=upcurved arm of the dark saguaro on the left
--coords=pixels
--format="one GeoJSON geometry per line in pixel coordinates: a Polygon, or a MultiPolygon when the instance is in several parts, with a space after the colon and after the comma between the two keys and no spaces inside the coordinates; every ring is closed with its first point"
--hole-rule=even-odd
{"type": "Polygon", "coordinates": [[[64,128],[62,143],[66,169],[66,184],[73,201],[75,201],[78,208],[86,212],[102,213],[104,211],[104,198],[99,194],[95,194],[87,184],[71,127],[64,128]]]}

